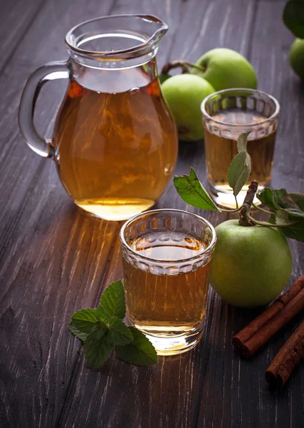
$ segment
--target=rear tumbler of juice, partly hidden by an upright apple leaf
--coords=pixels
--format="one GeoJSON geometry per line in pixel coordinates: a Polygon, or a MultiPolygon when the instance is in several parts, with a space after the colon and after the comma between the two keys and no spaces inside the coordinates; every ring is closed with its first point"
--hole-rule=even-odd
{"type": "MultiPolygon", "coordinates": [[[[212,93],[201,103],[204,125],[206,170],[211,195],[221,206],[235,208],[236,201],[227,180],[229,165],[238,153],[236,141],[248,135],[251,175],[241,193],[241,205],[252,180],[258,190],[269,185],[280,105],[276,98],[253,89],[234,88],[212,93]]],[[[255,203],[259,203],[256,199],[255,203]]]]}

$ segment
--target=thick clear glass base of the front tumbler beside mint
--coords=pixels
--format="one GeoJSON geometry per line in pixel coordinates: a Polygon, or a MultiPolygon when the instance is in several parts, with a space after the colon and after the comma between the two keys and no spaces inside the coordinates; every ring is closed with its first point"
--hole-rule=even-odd
{"type": "Polygon", "coordinates": [[[152,342],[157,355],[177,355],[195,347],[203,335],[203,322],[192,329],[185,327],[143,327],[133,323],[152,342]]]}

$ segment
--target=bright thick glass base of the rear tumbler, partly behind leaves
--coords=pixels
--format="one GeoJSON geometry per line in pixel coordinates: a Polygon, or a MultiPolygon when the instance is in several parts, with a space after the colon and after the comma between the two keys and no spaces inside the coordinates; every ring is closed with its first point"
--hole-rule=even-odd
{"type": "MultiPolygon", "coordinates": [[[[258,186],[258,191],[263,190],[264,186],[258,186]]],[[[239,207],[243,205],[243,200],[245,199],[248,185],[244,185],[239,195],[234,198],[231,187],[229,185],[213,185],[209,182],[209,190],[211,193],[211,198],[214,200],[216,205],[219,205],[223,208],[236,208],[236,199],[238,201],[239,207]]],[[[256,205],[261,205],[261,202],[258,198],[253,199],[253,203],[256,205]]]]}

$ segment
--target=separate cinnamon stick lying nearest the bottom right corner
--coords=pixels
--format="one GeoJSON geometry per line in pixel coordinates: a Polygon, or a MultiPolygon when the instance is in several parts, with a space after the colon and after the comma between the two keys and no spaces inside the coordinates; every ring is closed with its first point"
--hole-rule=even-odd
{"type": "Polygon", "coordinates": [[[304,356],[304,322],[281,347],[265,373],[268,384],[281,387],[304,356]]]}

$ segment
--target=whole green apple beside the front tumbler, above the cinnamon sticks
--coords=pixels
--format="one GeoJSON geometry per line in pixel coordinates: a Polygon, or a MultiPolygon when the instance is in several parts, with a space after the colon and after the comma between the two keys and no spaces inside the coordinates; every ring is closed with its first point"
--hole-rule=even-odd
{"type": "Polygon", "coordinates": [[[234,306],[256,307],[279,295],[293,265],[281,230],[240,226],[239,220],[225,221],[215,230],[210,282],[221,298],[234,306]]]}

